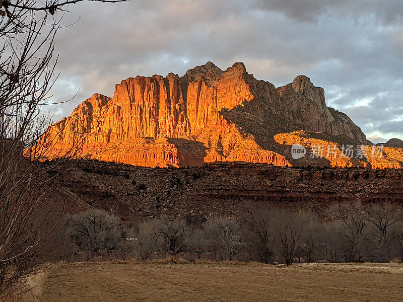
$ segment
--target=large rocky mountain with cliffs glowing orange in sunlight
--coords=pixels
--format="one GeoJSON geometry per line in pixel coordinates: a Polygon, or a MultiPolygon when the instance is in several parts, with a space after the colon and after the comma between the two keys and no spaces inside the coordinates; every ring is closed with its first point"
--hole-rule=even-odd
{"type": "Polygon", "coordinates": [[[94,94],[51,125],[39,144],[52,159],[81,139],[78,158],[146,167],[243,161],[400,168],[403,159],[403,149],[394,147],[366,158],[372,143],[346,114],[326,106],[324,90],[309,78],[299,75],[276,89],[256,80],[242,62],[225,71],[208,62],[183,77],[128,78],[115,85],[113,98],[94,94]],[[294,143],[307,149],[305,157],[293,159],[294,143]],[[365,156],[343,156],[344,144],[365,156]],[[335,151],[311,159],[316,145],[335,151]]]}

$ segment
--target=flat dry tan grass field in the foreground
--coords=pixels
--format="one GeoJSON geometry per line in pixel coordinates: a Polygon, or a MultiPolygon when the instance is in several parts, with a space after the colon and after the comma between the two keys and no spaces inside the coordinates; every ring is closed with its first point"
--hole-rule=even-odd
{"type": "Polygon", "coordinates": [[[75,263],[39,301],[401,301],[403,264],[75,263]]]}

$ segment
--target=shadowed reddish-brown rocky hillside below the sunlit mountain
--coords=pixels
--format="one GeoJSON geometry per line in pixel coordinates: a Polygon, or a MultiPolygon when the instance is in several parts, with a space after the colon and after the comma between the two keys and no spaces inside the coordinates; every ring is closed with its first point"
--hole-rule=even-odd
{"type": "Polygon", "coordinates": [[[152,169],[84,161],[63,173],[54,200],[76,201],[132,221],[181,216],[241,217],[250,206],[281,204],[326,216],[339,202],[403,202],[403,171],[283,168],[212,163],[152,169]]]}

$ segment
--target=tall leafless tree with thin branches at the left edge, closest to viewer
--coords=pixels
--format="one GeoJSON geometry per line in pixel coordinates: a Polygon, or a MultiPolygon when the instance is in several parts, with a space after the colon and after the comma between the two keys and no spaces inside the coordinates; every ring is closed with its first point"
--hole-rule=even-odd
{"type": "Polygon", "coordinates": [[[54,37],[66,6],[81,1],[0,0],[0,299],[32,271],[30,259],[54,228],[45,228],[54,214],[46,198],[78,144],[41,163],[51,148],[39,138],[49,125],[40,108],[57,79],[54,37]]]}

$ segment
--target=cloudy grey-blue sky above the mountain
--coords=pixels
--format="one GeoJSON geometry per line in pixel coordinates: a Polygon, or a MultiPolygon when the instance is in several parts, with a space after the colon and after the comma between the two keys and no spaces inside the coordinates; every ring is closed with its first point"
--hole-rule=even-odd
{"type": "Polygon", "coordinates": [[[373,142],[403,139],[401,0],[131,0],[71,5],[56,39],[54,120],[137,74],[183,75],[243,61],[276,87],[298,74],[325,89],[373,142]]]}

